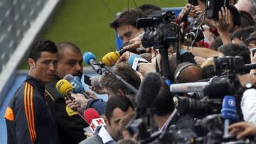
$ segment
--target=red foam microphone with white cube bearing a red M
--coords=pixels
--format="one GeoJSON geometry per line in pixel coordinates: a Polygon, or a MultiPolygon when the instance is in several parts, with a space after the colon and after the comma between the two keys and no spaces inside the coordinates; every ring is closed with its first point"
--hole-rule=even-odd
{"type": "Polygon", "coordinates": [[[90,130],[93,134],[97,134],[102,126],[106,126],[103,118],[100,118],[100,114],[95,109],[87,109],[84,113],[85,121],[90,125],[90,130]]]}

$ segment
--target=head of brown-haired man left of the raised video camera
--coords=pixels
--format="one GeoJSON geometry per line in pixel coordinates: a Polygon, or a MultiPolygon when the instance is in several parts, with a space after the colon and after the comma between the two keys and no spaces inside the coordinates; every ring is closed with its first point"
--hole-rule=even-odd
{"type": "Polygon", "coordinates": [[[129,43],[129,40],[134,38],[137,33],[143,31],[143,28],[137,28],[137,18],[143,18],[144,13],[141,9],[126,9],[110,23],[110,28],[114,28],[119,38],[124,44],[129,43]]]}

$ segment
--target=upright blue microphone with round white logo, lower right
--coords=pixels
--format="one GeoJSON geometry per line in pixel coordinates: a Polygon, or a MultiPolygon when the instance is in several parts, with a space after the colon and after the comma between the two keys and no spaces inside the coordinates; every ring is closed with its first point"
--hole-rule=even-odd
{"type": "Polygon", "coordinates": [[[224,119],[224,135],[226,138],[229,136],[228,134],[228,126],[230,121],[234,121],[237,118],[237,110],[235,106],[235,97],[234,96],[225,96],[223,99],[223,106],[221,109],[221,115],[224,119]]]}

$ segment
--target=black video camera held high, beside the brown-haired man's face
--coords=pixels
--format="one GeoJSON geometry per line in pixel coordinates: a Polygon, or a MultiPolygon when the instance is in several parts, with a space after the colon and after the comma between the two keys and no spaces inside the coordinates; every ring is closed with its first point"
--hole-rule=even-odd
{"type": "Polygon", "coordinates": [[[138,18],[137,28],[144,28],[142,45],[144,48],[169,48],[178,41],[178,25],[173,11],[155,11],[148,18],[138,18]]]}

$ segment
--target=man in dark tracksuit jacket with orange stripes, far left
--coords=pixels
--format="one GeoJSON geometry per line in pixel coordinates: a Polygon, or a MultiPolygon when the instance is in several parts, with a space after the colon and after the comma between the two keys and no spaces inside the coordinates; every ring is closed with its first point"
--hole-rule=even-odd
{"type": "Polygon", "coordinates": [[[58,50],[50,40],[31,46],[26,80],[9,102],[5,118],[8,143],[59,143],[57,128],[45,100],[45,86],[55,74],[58,50]]]}

